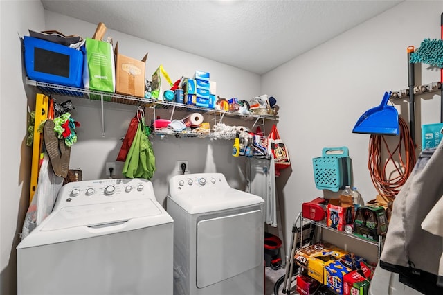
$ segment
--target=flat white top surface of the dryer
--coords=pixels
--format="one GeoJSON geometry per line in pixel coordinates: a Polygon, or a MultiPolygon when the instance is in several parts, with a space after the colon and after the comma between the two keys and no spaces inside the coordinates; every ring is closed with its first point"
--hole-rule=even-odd
{"type": "Polygon", "coordinates": [[[168,196],[190,214],[206,213],[264,203],[262,197],[235,188],[192,191],[168,196]]]}

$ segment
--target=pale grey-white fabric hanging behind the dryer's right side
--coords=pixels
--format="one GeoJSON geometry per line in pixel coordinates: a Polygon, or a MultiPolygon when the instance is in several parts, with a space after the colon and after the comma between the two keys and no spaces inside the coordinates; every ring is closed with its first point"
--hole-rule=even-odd
{"type": "Polygon", "coordinates": [[[264,199],[266,224],[277,226],[275,204],[275,163],[271,159],[248,157],[246,165],[246,192],[264,199]]]}

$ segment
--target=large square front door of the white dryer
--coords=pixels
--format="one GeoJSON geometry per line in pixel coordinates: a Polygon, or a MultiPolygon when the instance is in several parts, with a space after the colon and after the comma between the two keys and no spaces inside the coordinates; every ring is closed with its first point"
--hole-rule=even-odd
{"type": "Polygon", "coordinates": [[[197,287],[232,278],[263,264],[262,211],[197,222],[197,287]]]}

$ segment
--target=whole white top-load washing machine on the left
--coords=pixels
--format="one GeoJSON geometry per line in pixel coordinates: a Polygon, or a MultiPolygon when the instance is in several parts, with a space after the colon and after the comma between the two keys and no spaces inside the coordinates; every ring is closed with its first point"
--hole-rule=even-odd
{"type": "Polygon", "coordinates": [[[172,294],[173,220],[146,179],[66,184],[17,246],[18,294],[172,294]]]}

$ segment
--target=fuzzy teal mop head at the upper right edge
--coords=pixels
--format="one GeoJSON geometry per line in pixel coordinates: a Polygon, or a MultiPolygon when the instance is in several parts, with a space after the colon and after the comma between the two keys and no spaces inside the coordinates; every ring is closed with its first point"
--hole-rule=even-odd
{"type": "Polygon", "coordinates": [[[443,68],[443,40],[424,39],[420,47],[411,53],[409,62],[411,64],[423,63],[437,68],[443,68]]]}

